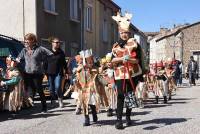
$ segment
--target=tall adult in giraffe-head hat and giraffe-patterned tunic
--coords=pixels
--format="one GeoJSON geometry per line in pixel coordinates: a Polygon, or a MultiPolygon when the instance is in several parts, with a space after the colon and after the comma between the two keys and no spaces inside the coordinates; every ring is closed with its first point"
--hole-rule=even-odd
{"type": "Polygon", "coordinates": [[[139,81],[143,81],[142,74],[146,71],[144,53],[134,38],[130,37],[130,20],[132,14],[125,13],[112,17],[118,24],[120,40],[113,45],[114,76],[117,86],[117,121],[116,129],[123,129],[122,114],[125,101],[126,125],[130,126],[132,107],[137,106],[135,88],[139,81]]]}

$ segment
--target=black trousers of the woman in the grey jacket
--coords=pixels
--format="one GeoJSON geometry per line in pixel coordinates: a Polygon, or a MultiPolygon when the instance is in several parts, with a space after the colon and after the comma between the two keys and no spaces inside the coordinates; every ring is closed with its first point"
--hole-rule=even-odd
{"type": "Polygon", "coordinates": [[[46,98],[42,88],[43,74],[24,74],[24,87],[27,92],[32,91],[32,97],[39,93],[42,108],[46,108],[46,98]]]}

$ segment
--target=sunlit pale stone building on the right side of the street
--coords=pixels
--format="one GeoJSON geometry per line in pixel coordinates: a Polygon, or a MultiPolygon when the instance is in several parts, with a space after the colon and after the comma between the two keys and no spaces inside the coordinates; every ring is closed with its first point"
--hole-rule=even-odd
{"type": "Polygon", "coordinates": [[[186,66],[191,55],[200,64],[200,22],[165,29],[150,41],[150,63],[175,58],[186,66]]]}

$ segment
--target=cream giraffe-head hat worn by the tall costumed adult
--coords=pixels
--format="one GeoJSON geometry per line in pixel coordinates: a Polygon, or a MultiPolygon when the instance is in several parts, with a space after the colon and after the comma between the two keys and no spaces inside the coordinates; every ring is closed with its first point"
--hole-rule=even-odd
{"type": "Polygon", "coordinates": [[[132,14],[127,12],[124,16],[121,16],[119,12],[117,13],[117,16],[112,16],[113,20],[118,24],[119,32],[129,32],[132,16],[132,14]]]}

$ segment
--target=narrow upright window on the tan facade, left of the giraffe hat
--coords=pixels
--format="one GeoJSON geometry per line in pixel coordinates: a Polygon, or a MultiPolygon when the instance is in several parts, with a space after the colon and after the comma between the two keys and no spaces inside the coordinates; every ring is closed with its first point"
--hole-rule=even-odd
{"type": "Polygon", "coordinates": [[[88,6],[86,8],[86,18],[85,18],[86,22],[86,29],[91,31],[92,30],[92,7],[88,6]]]}

